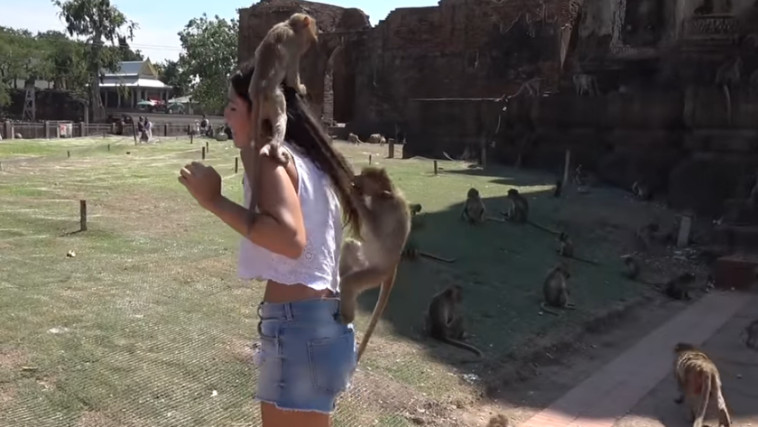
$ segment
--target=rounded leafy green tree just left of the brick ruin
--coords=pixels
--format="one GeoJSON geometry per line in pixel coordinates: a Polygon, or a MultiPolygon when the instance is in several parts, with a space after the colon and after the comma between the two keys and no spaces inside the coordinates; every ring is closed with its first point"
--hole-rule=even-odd
{"type": "Polygon", "coordinates": [[[179,32],[183,52],[178,65],[185,81],[192,82],[192,100],[205,111],[221,112],[226,104],[228,79],[237,63],[237,34],[237,20],[205,14],[179,32]]]}

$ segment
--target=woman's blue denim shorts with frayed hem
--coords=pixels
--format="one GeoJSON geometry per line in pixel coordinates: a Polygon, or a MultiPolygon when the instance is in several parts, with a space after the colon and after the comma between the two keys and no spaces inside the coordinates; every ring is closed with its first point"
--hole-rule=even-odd
{"type": "Polygon", "coordinates": [[[331,413],[355,370],[355,332],[339,320],[339,299],[258,306],[258,390],[279,409],[331,413]]]}

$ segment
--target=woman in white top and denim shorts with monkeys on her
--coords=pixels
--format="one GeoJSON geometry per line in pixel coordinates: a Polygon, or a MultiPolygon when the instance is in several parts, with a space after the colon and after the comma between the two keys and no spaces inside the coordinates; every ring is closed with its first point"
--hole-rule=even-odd
{"type": "MultiPolygon", "coordinates": [[[[255,155],[248,147],[255,134],[247,93],[252,74],[248,63],[232,75],[224,111],[248,174],[255,155]]],[[[180,171],[179,181],[202,207],[244,237],[240,276],[266,280],[258,307],[256,393],[263,426],[327,427],[335,399],[355,367],[352,326],[338,317],[342,211],[347,224],[354,229],[360,224],[350,198],[350,166],[332,148],[305,101],[293,89],[284,90],[284,147],[293,161],[282,166],[270,157],[260,158],[259,170],[252,171],[258,174],[259,213],[248,210],[247,176],[244,206],[221,195],[221,177],[210,166],[193,162],[180,171]]]]}

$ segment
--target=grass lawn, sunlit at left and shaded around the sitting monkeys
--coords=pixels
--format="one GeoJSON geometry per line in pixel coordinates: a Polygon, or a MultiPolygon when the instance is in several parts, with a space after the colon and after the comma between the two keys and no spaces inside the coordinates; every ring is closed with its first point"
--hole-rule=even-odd
{"type": "MultiPolygon", "coordinates": [[[[250,359],[262,285],[236,278],[239,236],[176,181],[205,141],[0,143],[0,426],[258,425],[250,359]],[[89,230],[76,233],[80,199],[89,230]]],[[[469,383],[464,374],[477,365],[462,363],[471,357],[420,334],[429,297],[445,286],[464,287],[470,342],[490,360],[640,291],[618,278],[616,256],[645,212],[610,190],[556,200],[554,179],[544,175],[440,161],[434,176],[430,160],[335,144],[356,168],[369,154],[387,167],[408,199],[423,205],[414,242],[457,259],[401,265],[336,426],[410,426],[420,413],[442,419],[449,406],[473,399],[481,380],[469,383]],[[505,209],[507,190],[518,186],[535,221],[568,230],[581,256],[607,261],[570,262],[576,312],[538,314],[541,280],[556,262],[553,236],[458,221],[471,186],[492,211],[505,209]]],[[[236,150],[212,140],[209,148],[206,163],[224,177],[224,192],[241,200],[236,150]]],[[[358,331],[376,294],[361,299],[358,331]]]]}

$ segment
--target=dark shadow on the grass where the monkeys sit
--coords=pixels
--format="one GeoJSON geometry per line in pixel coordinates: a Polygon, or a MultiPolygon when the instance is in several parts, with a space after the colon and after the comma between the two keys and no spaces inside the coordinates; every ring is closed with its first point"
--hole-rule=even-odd
{"type": "MultiPolygon", "coordinates": [[[[475,177],[477,180],[472,186],[479,187],[480,192],[484,187],[482,178],[496,184],[494,187],[487,185],[488,190],[483,193],[497,193],[483,197],[493,216],[510,206],[505,196],[508,187],[519,187],[530,201],[530,219],[553,230],[566,230],[566,224],[551,219],[551,214],[560,209],[561,199],[552,196],[554,183],[546,182],[548,180],[544,177],[540,179],[536,174],[505,167],[442,169],[439,178],[445,175],[475,177]],[[500,187],[502,184],[505,186],[500,187]],[[535,188],[530,189],[530,186],[535,188]]],[[[437,178],[424,176],[421,179],[437,178]]],[[[461,191],[465,185],[449,191],[461,191]]],[[[428,191],[432,191],[431,188],[428,191]]],[[[482,373],[496,367],[508,358],[507,355],[532,339],[544,338],[548,331],[581,328],[592,319],[596,309],[624,301],[637,293],[631,287],[607,286],[609,277],[618,276],[615,264],[595,266],[571,260],[568,262],[573,270],[572,281],[576,283],[572,296],[580,309],[559,317],[540,315],[542,280],[560,259],[555,252],[555,236],[530,225],[494,221],[480,225],[465,223],[459,219],[464,197],[465,190],[461,191],[459,203],[431,212],[422,211],[417,216],[422,226],[415,228],[409,238],[420,250],[456,261],[447,264],[425,258],[403,260],[391,303],[383,315],[395,334],[423,343],[430,357],[454,366],[475,361],[474,370],[482,373]],[[424,314],[431,297],[454,284],[463,287],[463,312],[467,331],[471,334],[467,342],[485,353],[480,361],[470,352],[434,341],[423,333],[424,314]]],[[[424,205],[423,200],[412,202],[424,205]]],[[[604,252],[613,253],[607,249],[599,244],[593,248],[593,253],[581,255],[600,259],[604,252]]],[[[359,299],[359,305],[370,313],[377,296],[378,290],[367,292],[359,299]]],[[[364,328],[365,325],[359,325],[359,330],[364,328]]],[[[366,356],[370,359],[371,345],[366,356]]],[[[471,367],[469,365],[466,369],[471,367]]]]}

